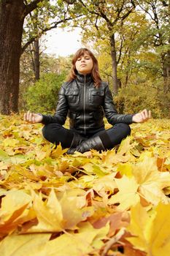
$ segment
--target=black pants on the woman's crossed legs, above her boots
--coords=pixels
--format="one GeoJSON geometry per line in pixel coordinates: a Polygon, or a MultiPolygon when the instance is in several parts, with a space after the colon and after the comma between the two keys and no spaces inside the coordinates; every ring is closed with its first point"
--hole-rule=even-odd
{"type": "MultiPolygon", "coordinates": [[[[61,124],[51,123],[46,124],[42,129],[44,138],[51,143],[58,145],[61,143],[63,148],[70,148],[74,136],[78,134],[73,129],[66,129],[61,124]]],[[[128,124],[115,124],[109,129],[102,129],[99,132],[85,135],[85,139],[99,136],[107,149],[113,148],[121,142],[124,138],[131,134],[131,128],[128,124]]]]}

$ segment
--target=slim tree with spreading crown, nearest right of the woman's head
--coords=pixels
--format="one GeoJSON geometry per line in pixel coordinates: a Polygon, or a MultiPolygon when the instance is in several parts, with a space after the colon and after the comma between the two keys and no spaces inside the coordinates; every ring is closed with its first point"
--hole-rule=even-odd
{"type": "MultiPolygon", "coordinates": [[[[78,1],[82,4],[81,12],[84,17],[80,20],[81,27],[93,39],[108,39],[110,56],[112,59],[112,91],[117,94],[119,83],[117,80],[117,64],[120,56],[117,56],[116,37],[120,24],[135,10],[135,3],[131,1],[78,1]],[[86,20],[86,22],[85,22],[86,20]]],[[[120,46],[121,47],[121,46],[120,46]]],[[[121,50],[120,50],[121,53],[121,50]]]]}

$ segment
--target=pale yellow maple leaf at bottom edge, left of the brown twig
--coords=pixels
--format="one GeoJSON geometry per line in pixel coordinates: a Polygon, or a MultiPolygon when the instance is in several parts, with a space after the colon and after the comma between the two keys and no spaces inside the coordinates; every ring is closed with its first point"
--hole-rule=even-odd
{"type": "Polygon", "coordinates": [[[82,222],[79,225],[78,233],[67,233],[47,242],[45,248],[47,255],[50,256],[80,256],[88,255],[94,249],[103,246],[104,238],[107,238],[109,224],[100,229],[95,229],[89,222],[82,222]]]}

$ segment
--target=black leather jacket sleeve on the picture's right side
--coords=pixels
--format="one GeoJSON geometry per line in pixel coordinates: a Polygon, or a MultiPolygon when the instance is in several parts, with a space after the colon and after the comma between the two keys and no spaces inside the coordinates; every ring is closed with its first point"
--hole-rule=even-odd
{"type": "Polygon", "coordinates": [[[128,114],[118,114],[115,108],[115,104],[112,99],[112,93],[109,90],[109,86],[107,85],[105,88],[104,94],[104,113],[107,118],[109,124],[117,124],[117,123],[125,123],[125,124],[132,124],[132,117],[134,115],[128,114]]]}

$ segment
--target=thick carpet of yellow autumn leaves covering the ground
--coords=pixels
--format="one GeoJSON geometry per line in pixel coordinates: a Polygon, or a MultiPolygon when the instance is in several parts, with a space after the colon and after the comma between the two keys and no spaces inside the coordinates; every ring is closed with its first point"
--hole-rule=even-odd
{"type": "Polygon", "coordinates": [[[0,116],[0,255],[169,256],[170,121],[131,128],[119,148],[66,155],[41,124],[0,116]]]}

